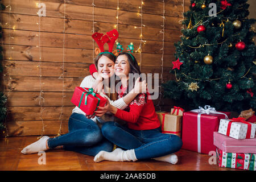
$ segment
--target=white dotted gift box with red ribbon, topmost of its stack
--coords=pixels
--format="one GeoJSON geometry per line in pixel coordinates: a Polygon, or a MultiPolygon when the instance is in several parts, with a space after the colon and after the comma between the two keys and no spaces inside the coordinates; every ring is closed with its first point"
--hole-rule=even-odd
{"type": "Polygon", "coordinates": [[[236,139],[254,138],[256,124],[246,122],[245,118],[221,119],[218,133],[236,139]]]}

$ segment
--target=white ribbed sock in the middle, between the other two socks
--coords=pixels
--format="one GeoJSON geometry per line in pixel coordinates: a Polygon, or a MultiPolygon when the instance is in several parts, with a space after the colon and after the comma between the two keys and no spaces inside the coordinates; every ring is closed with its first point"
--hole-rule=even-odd
{"type": "Polygon", "coordinates": [[[121,148],[116,148],[112,152],[100,151],[94,157],[94,162],[101,162],[102,160],[109,160],[115,162],[123,162],[123,161],[136,161],[136,155],[134,150],[122,150],[121,148]]]}

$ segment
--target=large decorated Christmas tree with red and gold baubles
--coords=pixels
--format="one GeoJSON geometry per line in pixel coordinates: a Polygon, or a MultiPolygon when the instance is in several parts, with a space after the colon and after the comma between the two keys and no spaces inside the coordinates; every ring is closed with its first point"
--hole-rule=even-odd
{"type": "Polygon", "coordinates": [[[174,80],[164,97],[184,109],[210,105],[216,110],[256,109],[255,19],[247,0],[191,1],[184,13],[181,41],[175,43],[174,80]]]}

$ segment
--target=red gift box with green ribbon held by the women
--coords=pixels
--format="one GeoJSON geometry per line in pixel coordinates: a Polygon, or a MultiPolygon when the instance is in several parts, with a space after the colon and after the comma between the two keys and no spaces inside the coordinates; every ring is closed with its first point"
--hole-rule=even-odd
{"type": "Polygon", "coordinates": [[[104,107],[106,98],[93,92],[92,88],[76,87],[71,102],[79,107],[86,115],[92,115],[94,111],[100,110],[97,107],[104,107]]]}

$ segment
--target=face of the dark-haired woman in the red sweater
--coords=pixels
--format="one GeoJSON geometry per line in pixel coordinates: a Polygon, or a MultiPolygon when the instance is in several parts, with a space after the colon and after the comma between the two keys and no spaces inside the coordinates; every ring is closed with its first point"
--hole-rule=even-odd
{"type": "Polygon", "coordinates": [[[120,55],[115,60],[115,75],[119,77],[126,76],[128,77],[130,73],[130,64],[128,61],[128,57],[126,55],[120,55]]]}

